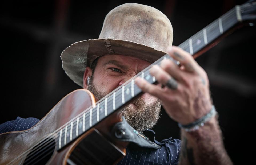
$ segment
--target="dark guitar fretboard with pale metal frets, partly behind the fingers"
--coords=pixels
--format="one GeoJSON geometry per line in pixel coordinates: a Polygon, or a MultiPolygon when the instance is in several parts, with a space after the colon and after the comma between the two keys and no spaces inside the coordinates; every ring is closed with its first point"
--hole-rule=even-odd
{"type": "MultiPolygon", "coordinates": [[[[194,55],[210,43],[214,42],[214,40],[227,32],[235,24],[242,21],[240,11],[241,9],[239,6],[234,7],[213,23],[180,44],[179,47],[189,52],[191,55],[194,55]]],[[[134,83],[136,77],[142,77],[151,84],[156,83],[155,77],[150,75],[149,69],[152,65],[159,65],[161,60],[165,58],[171,59],[169,55],[164,55],[125,84],[119,86],[110,94],[99,100],[95,107],[86,109],[79,117],[61,127],[56,134],[57,136],[55,136],[57,149],[59,150],[66,146],[69,142],[79,137],[91,127],[94,127],[115,110],[127,105],[131,100],[142,94],[141,89],[134,83]]]]}

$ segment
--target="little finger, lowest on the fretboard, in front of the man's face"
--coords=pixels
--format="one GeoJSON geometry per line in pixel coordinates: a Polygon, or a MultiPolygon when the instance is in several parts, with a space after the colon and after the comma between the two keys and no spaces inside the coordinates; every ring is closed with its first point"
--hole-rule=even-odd
{"type": "Polygon", "coordinates": [[[163,98],[163,89],[161,86],[157,86],[154,84],[150,84],[146,80],[142,79],[141,77],[137,77],[135,80],[135,84],[141,88],[143,92],[147,92],[155,97],[158,97],[160,100],[163,98]]]}

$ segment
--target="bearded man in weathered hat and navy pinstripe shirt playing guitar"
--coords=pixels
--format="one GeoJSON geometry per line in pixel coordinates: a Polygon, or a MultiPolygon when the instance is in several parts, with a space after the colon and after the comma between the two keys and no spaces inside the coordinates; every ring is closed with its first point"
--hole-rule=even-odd
{"type": "MultiPolygon", "coordinates": [[[[134,81],[145,93],[121,111],[134,129],[159,147],[128,146],[118,164],[232,164],[223,146],[207,74],[189,53],[171,47],[172,40],[171,23],[159,10],[123,4],[107,14],[99,39],[74,43],[62,52],[63,69],[100,100],[168,53],[174,60],[166,58],[150,69],[158,84],[137,77],[134,81]],[[150,129],[159,119],[161,105],[181,127],[182,141],[154,139],[150,129]]],[[[0,133],[28,129],[38,122],[26,125],[26,120],[6,122],[0,125],[0,133]]]]}

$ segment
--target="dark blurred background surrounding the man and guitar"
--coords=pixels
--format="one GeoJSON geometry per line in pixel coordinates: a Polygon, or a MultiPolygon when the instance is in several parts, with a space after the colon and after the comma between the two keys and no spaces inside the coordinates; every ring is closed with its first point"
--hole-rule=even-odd
{"type": "MultiPolygon", "coordinates": [[[[4,1],[0,7],[2,115],[0,123],[42,119],[69,92],[81,88],[62,69],[61,52],[71,44],[96,39],[106,14],[135,2],[162,11],[171,21],[178,46],[243,0],[215,1],[4,1]]],[[[243,27],[198,57],[206,70],[219,112],[225,148],[235,164],[249,162],[256,81],[256,28],[243,27]]],[[[153,128],[156,139],[179,138],[177,123],[162,110],[153,128]]]]}

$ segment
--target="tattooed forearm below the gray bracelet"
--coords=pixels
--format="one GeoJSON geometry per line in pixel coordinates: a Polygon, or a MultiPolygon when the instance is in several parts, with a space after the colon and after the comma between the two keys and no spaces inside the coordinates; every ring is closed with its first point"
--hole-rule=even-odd
{"type": "Polygon", "coordinates": [[[181,129],[181,137],[179,164],[233,164],[223,145],[218,115],[199,130],[186,132],[181,129]]]}

